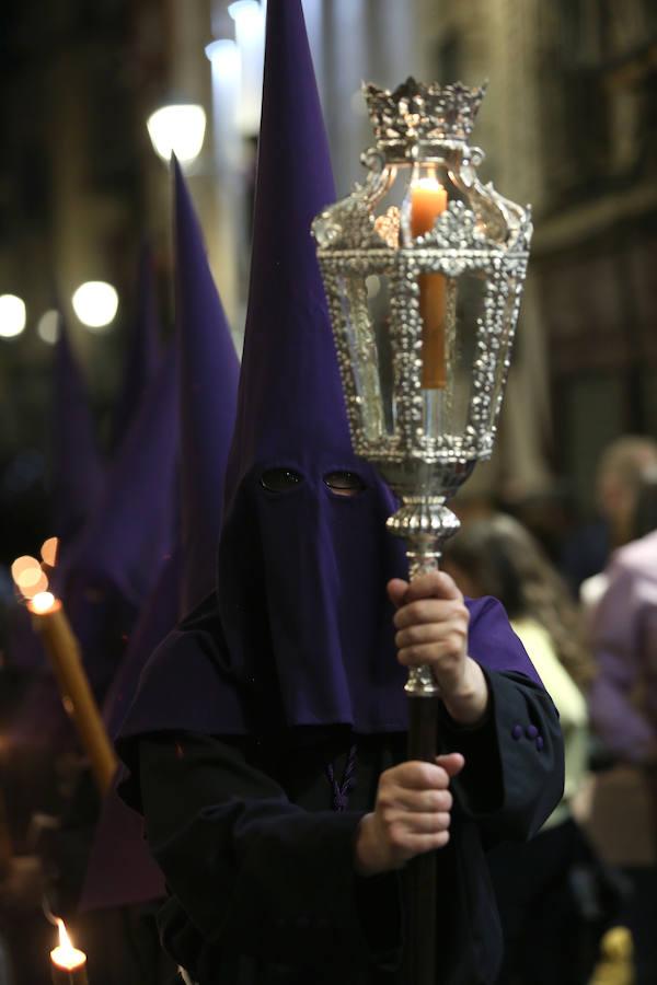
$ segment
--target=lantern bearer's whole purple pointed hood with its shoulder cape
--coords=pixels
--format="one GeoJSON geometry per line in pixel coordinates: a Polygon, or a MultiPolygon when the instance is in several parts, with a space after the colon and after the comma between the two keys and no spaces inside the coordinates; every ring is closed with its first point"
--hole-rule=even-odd
{"type": "MultiPolygon", "coordinates": [[[[293,726],[402,731],[387,581],[406,573],[385,530],[393,498],[348,434],[310,227],[334,198],[300,0],[269,0],[249,312],[228,464],[217,603],[193,613],[149,663],[125,722],[254,734],[293,726]],[[361,484],[332,488],[335,474],[361,484]]],[[[491,600],[471,604],[470,648],[531,673],[491,600]],[[502,642],[489,645],[489,633],[502,642]],[[502,628],[500,628],[502,627],[502,628]]],[[[138,803],[126,784],[124,796],[138,803]]]]}

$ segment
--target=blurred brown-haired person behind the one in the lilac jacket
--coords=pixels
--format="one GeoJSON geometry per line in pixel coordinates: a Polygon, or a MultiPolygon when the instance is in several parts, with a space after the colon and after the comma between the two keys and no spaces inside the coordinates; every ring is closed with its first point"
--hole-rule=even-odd
{"type": "Polygon", "coordinates": [[[567,538],[562,556],[562,570],[574,592],[581,591],[585,605],[600,598],[604,582],[595,576],[603,570],[610,553],[632,540],[637,490],[642,475],[652,467],[657,467],[657,441],[637,434],[616,438],[600,456],[596,471],[598,518],[567,538]],[[586,583],[588,579],[591,581],[586,583]]]}

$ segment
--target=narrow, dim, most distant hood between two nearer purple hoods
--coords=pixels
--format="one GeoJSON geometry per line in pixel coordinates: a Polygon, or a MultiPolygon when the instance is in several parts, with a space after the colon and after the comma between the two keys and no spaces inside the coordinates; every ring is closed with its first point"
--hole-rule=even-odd
{"type": "Polygon", "coordinates": [[[145,243],[139,256],[135,317],[131,322],[123,386],[116,407],[115,447],[128,431],[148,385],[157,372],[162,355],[160,337],[153,256],[150,246],[145,243]]]}

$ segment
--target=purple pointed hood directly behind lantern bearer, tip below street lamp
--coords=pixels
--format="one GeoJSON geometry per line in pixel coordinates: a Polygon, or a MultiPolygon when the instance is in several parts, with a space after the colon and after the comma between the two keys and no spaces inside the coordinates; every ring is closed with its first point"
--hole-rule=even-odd
{"type": "MultiPolygon", "coordinates": [[[[239,362],[215,287],[200,224],[173,164],[176,346],[180,359],[183,545],[160,575],[104,706],[116,738],[150,653],[215,584],[226,460],[234,425],[239,362]]],[[[82,893],[83,908],[143,903],[163,892],[141,822],[113,789],[103,806],[82,893]],[[130,865],[117,866],[117,858],[130,865]]]]}

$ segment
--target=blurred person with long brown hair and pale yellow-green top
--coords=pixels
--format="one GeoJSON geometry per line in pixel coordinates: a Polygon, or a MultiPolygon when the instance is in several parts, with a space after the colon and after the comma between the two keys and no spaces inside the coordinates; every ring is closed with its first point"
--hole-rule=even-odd
{"type": "MultiPolygon", "coordinates": [[[[558,708],[566,750],[564,796],[539,834],[488,855],[506,949],[498,982],[580,985],[590,977],[616,894],[572,810],[587,774],[585,694],[593,676],[578,613],[539,543],[511,517],[460,531],[443,568],[465,595],[503,603],[558,708]]],[[[531,726],[514,738],[540,741],[531,726]]]]}

